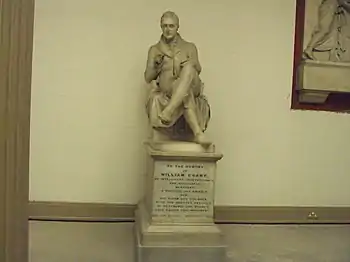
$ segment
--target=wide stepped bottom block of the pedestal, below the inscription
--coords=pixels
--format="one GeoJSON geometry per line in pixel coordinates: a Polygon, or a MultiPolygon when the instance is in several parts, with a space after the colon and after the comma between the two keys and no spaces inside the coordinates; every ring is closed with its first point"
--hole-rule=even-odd
{"type": "Polygon", "coordinates": [[[227,247],[215,224],[149,225],[137,214],[134,238],[136,262],[227,261],[227,247]]]}

